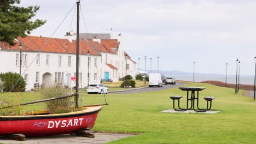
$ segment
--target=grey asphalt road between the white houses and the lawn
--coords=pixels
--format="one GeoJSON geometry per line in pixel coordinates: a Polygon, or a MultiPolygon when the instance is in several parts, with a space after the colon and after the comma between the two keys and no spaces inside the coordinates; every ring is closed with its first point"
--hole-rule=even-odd
{"type": "Polygon", "coordinates": [[[188,83],[176,82],[176,85],[162,85],[162,87],[144,87],[138,89],[131,89],[131,91],[120,91],[120,92],[112,92],[113,94],[130,94],[130,93],[144,93],[144,92],[153,92],[153,91],[161,91],[164,89],[170,89],[175,87],[182,87],[188,85],[188,83]]]}

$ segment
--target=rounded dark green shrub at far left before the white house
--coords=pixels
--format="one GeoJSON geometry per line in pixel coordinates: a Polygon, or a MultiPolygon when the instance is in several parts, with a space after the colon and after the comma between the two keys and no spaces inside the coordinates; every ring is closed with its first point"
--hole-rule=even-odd
{"type": "Polygon", "coordinates": [[[23,77],[20,77],[20,74],[17,73],[1,73],[0,74],[0,79],[4,82],[3,83],[3,89],[5,92],[9,92],[10,89],[14,86],[13,89],[11,89],[11,92],[24,92],[26,88],[26,82],[23,79],[23,77]],[[20,78],[20,79],[19,79],[20,78]]]}

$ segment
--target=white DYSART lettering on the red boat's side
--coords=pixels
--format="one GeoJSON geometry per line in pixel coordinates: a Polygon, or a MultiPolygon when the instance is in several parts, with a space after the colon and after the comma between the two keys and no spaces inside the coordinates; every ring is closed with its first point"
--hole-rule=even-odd
{"type": "Polygon", "coordinates": [[[84,118],[74,118],[74,119],[69,119],[69,120],[62,120],[62,121],[49,121],[48,122],[48,129],[51,128],[58,128],[59,126],[61,128],[64,127],[74,127],[78,125],[82,125],[84,118]],[[80,123],[79,123],[80,121],[80,123]]]}

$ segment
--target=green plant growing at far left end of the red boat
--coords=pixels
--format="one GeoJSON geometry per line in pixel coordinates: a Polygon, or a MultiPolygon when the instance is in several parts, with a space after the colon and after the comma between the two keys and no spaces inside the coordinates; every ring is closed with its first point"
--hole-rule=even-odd
{"type": "Polygon", "coordinates": [[[19,116],[21,93],[8,93],[7,97],[3,94],[0,94],[0,116],[19,116]]]}

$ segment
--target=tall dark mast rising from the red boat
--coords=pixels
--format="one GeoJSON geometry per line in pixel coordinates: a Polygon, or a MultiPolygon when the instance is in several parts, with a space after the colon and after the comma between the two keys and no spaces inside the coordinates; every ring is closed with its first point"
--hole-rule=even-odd
{"type": "Polygon", "coordinates": [[[79,87],[79,4],[80,0],[77,1],[77,59],[76,59],[76,73],[75,73],[75,108],[78,108],[78,99],[79,99],[79,93],[78,93],[78,87],[79,87]]]}

